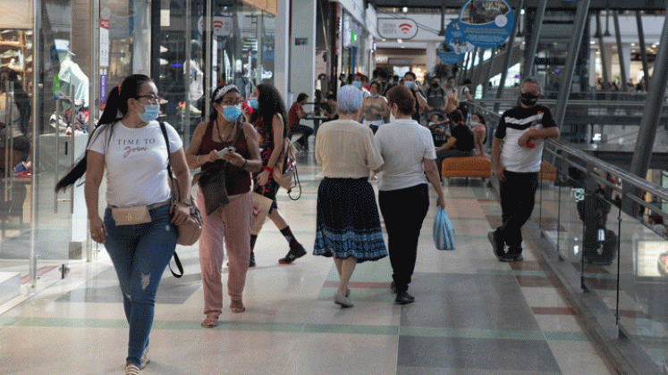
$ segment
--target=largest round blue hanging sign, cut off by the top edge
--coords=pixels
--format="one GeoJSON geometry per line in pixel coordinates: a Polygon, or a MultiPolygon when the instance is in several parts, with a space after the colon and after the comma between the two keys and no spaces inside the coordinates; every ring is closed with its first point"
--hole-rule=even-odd
{"type": "Polygon", "coordinates": [[[503,0],[469,0],[461,7],[459,22],[469,44],[494,48],[511,35],[515,16],[503,0]]]}

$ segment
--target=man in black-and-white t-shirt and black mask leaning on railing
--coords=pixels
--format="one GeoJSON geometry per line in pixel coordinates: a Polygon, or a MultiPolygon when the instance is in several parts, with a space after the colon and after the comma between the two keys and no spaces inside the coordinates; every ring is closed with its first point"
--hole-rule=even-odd
{"type": "Polygon", "coordinates": [[[523,259],[521,228],[534,210],[544,139],[559,137],[552,112],[537,104],[540,95],[537,79],[522,80],[520,105],[503,112],[492,142],[503,224],[487,237],[502,262],[523,259]]]}

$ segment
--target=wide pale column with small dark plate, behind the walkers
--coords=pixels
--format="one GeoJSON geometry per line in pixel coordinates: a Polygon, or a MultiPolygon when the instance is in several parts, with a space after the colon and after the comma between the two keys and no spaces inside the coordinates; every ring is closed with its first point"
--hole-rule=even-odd
{"type": "Polygon", "coordinates": [[[292,71],[290,92],[295,98],[305,93],[309,96],[309,102],[316,89],[316,26],[316,0],[293,0],[292,39],[288,41],[292,71]],[[295,45],[298,39],[301,42],[299,46],[295,45]]]}

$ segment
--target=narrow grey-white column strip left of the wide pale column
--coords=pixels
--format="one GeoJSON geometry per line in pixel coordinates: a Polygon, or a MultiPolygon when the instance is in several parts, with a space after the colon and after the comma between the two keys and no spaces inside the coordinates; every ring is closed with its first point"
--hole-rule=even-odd
{"type": "Polygon", "coordinates": [[[275,37],[274,37],[274,86],[283,96],[285,105],[290,108],[292,103],[288,103],[288,77],[290,76],[290,65],[288,65],[290,56],[290,2],[279,1],[278,12],[275,17],[275,37]]]}

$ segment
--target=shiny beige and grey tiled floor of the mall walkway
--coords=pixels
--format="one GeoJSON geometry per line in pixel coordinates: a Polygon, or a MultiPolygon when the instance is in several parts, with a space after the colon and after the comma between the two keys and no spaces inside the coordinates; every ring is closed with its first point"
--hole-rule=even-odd
{"type": "MultiPolygon", "coordinates": [[[[300,157],[303,196],[292,202],[282,192],[279,205],[295,236],[312,248],[318,169],[312,155],[300,157]]],[[[435,250],[432,208],[410,285],[414,304],[393,304],[383,259],[357,267],[355,306],[342,310],[332,301],[333,262],[309,254],[279,265],[288,247],[267,222],[258,237],[258,267],[248,274],[248,311],[225,311],[216,329],[203,329],[197,246],[178,248],[186,275],[165,272],[144,373],[611,373],[528,244],[524,262],[495,259],[486,233],[499,221],[499,204],[478,181],[460,182],[444,187],[457,248],[435,250]]],[[[121,295],[111,262],[101,258],[72,264],[63,280],[57,270],[47,272],[40,283],[50,287],[0,314],[0,372],[123,372],[121,295]]]]}

